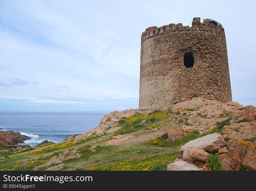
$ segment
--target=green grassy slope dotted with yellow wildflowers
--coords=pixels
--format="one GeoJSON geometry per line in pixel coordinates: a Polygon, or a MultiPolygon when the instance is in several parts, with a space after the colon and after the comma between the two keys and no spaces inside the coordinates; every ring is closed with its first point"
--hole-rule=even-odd
{"type": "Polygon", "coordinates": [[[148,139],[154,139],[157,134],[166,132],[170,124],[185,124],[186,116],[177,118],[172,112],[155,112],[150,115],[136,114],[122,119],[123,122],[118,124],[122,129],[115,134],[92,136],[75,144],[70,141],[62,144],[42,145],[39,149],[22,153],[2,153],[0,157],[4,157],[4,159],[0,161],[0,169],[8,170],[17,166],[14,170],[32,170],[33,167],[51,160],[50,158],[58,153],[82,148],[86,145],[98,145],[96,152],[80,152],[82,157],[64,161],[66,165],[62,170],[162,170],[168,163],[179,157],[177,151],[180,146],[190,140],[202,137],[198,132],[193,132],[183,140],[162,146],[148,144],[148,139]],[[104,141],[117,134],[132,134],[134,138],[118,145],[104,145],[104,141]],[[45,156],[45,154],[49,156],[45,156]],[[24,161],[28,161],[28,164],[20,167],[19,165],[24,161]]]}

